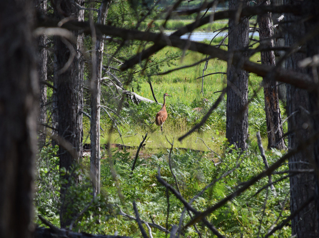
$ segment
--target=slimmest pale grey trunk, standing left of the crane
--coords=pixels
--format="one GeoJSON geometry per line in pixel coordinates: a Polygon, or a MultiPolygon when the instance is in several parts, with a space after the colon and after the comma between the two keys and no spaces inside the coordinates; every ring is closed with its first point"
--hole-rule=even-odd
{"type": "MultiPolygon", "coordinates": [[[[105,24],[110,0],[103,0],[99,8],[98,24],[105,24]]],[[[93,195],[100,193],[100,96],[104,39],[96,39],[95,52],[92,54],[91,80],[91,181],[93,195]]]]}

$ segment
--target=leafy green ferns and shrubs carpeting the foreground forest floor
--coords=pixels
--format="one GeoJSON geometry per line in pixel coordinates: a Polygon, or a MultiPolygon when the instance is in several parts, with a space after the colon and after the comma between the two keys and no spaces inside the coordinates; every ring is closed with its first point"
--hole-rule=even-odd
{"type": "MultiPolygon", "coordinates": [[[[171,154],[172,171],[177,178],[181,195],[188,202],[205,186],[208,188],[192,203],[197,211],[204,211],[217,204],[227,195],[236,191],[246,181],[265,169],[258,147],[250,147],[244,153],[236,151],[225,140],[216,141],[223,155],[198,153],[191,150],[173,150],[171,154]],[[229,152],[232,151],[232,152],[229,152]]],[[[42,149],[42,162],[38,164],[36,199],[37,214],[42,215],[53,224],[59,223],[59,166],[56,149],[42,149]],[[46,163],[49,162],[49,163],[46,163]]],[[[74,225],[75,231],[93,234],[114,234],[140,237],[140,231],[134,220],[119,215],[122,211],[135,216],[132,203],[136,201],[139,216],[147,222],[154,222],[171,229],[171,224],[179,224],[184,206],[171,192],[160,184],[156,178],[160,176],[176,189],[174,177],[169,168],[169,151],[156,155],[139,157],[135,169],[131,171],[132,156],[130,152],[121,150],[102,151],[101,160],[101,193],[93,199],[92,185],[89,182],[89,157],[84,157],[78,174],[82,181],[72,185],[70,198],[78,208],[84,210],[74,225]],[[169,207],[167,214],[167,207],[169,207]],[[97,216],[98,214],[98,216],[97,216]],[[168,215],[168,220],[167,220],[168,215]],[[166,222],[167,221],[167,222],[166,222]]],[[[278,150],[266,152],[269,165],[282,154],[278,150]]],[[[285,171],[288,165],[282,165],[278,171],[285,171]]],[[[60,169],[63,173],[63,168],[60,169]]],[[[241,195],[227,202],[211,213],[207,219],[226,237],[250,237],[266,234],[268,229],[280,224],[289,215],[289,180],[285,174],[272,176],[276,192],[271,191],[268,178],[263,178],[252,185],[241,195]],[[282,205],[282,206],[281,206],[282,205]]],[[[190,220],[185,213],[183,225],[190,220]]],[[[212,233],[199,222],[198,229],[203,237],[211,237],[212,233]]],[[[145,229],[147,229],[145,227],[145,229]]],[[[185,231],[186,237],[197,237],[194,227],[185,231]]],[[[274,237],[289,237],[291,230],[284,226],[274,237]]],[[[152,227],[154,237],[166,237],[166,234],[152,227]]]]}

